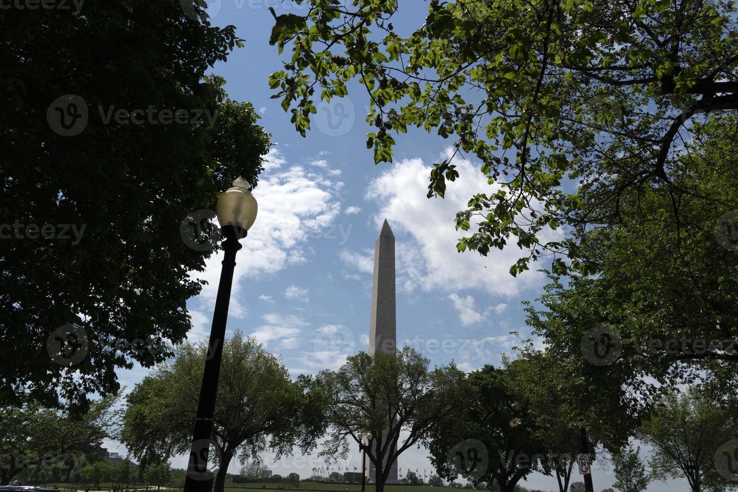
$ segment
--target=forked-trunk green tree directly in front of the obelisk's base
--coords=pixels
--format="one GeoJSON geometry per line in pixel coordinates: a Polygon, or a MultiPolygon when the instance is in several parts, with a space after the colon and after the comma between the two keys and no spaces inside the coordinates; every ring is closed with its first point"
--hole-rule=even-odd
{"type": "MultiPolygon", "coordinates": [[[[376,468],[376,491],[382,492],[390,467],[400,454],[428,438],[462,401],[463,373],[455,364],[429,368],[416,350],[396,353],[359,352],[338,370],[321,371],[314,392],[325,395],[321,406],[328,439],[321,455],[346,457],[359,433],[373,435],[367,449],[376,468]]],[[[410,473],[410,472],[409,472],[410,473]]]]}

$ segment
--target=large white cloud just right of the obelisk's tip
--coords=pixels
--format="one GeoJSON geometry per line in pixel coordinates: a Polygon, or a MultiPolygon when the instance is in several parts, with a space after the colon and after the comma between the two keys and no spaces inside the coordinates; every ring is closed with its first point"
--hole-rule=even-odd
{"type": "MultiPolygon", "coordinates": [[[[368,187],[365,198],[379,205],[376,230],[387,218],[397,238],[398,288],[445,292],[481,288],[489,294],[514,297],[524,288],[539,286],[545,278],[535,271],[536,266],[517,278],[509,274],[510,265],[521,255],[514,244],[504,251],[493,249],[487,257],[457,252],[456,239],[464,232],[455,230],[456,212],[466,209],[475,193],[493,193],[497,185],[489,185],[486,176],[468,161],[454,159],[453,164],[461,176],[447,184],[443,199],[427,198],[431,167],[421,159],[396,162],[368,187]]],[[[348,254],[343,256],[348,258],[348,254]]]]}

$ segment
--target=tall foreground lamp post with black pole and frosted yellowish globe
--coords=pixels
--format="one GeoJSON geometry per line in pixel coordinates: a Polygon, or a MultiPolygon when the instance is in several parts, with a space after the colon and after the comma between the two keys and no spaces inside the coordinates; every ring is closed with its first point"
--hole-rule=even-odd
{"type": "Polygon", "coordinates": [[[233,187],[221,195],[216,207],[218,222],[225,238],[223,243],[225,257],[221,268],[221,280],[218,283],[218,297],[215,298],[207,358],[202,372],[200,399],[197,404],[187,477],[184,479],[184,492],[210,492],[213,488],[213,472],[207,471],[207,457],[211,443],[215,445],[216,451],[218,450],[217,443],[212,440],[213,412],[215,398],[218,395],[218,377],[221,373],[235,254],[241,249],[238,240],[246,237],[246,232],[254,224],[258,210],[256,199],[249,188],[251,188],[249,181],[236,179],[233,181],[233,187]]]}

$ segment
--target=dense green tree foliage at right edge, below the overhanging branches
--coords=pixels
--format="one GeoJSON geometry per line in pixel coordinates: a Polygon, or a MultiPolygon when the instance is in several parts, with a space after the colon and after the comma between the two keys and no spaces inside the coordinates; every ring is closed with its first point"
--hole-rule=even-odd
{"type": "Polygon", "coordinates": [[[696,125],[672,181],[683,191],[624,193],[621,224],[584,235],[601,274],[554,278],[529,309],[555,359],[586,367],[593,387],[626,387],[632,409],[691,381],[712,380],[722,398],[736,389],[738,215],[716,205],[738,201],[735,123],[696,125]]]}

